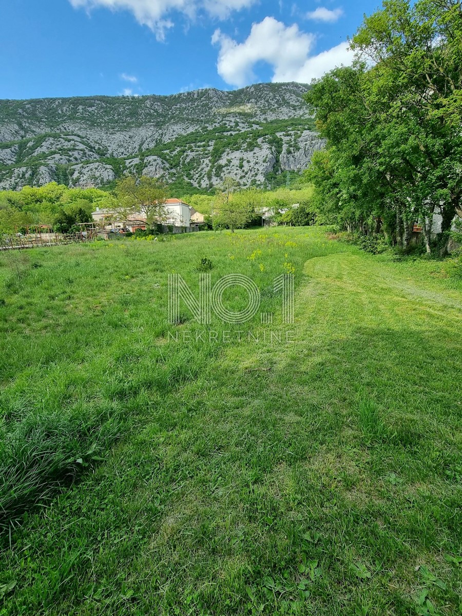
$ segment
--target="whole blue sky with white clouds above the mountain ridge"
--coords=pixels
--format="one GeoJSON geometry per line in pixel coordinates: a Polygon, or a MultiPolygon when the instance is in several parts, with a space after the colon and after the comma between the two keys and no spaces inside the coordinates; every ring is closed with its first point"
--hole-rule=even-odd
{"type": "Polygon", "coordinates": [[[310,81],[378,3],[0,0],[0,98],[174,94],[310,81]]]}

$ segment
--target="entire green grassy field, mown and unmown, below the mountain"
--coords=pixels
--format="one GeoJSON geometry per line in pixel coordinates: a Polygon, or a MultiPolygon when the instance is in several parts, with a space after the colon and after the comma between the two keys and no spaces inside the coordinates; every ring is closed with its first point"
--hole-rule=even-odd
{"type": "Polygon", "coordinates": [[[0,494],[16,511],[0,614],[460,613],[462,284],[445,264],[322,229],[0,262],[0,494]],[[204,256],[213,280],[253,277],[274,324],[214,321],[212,341],[186,309],[168,325],[167,274],[193,288],[204,256]],[[288,270],[290,326],[272,293],[288,270]]]}

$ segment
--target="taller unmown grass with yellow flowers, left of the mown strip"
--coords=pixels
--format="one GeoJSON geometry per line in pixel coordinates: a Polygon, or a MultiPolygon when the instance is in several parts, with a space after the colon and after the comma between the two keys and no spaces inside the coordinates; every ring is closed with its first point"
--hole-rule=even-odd
{"type": "MultiPolygon", "coordinates": [[[[264,287],[287,261],[300,278],[307,246],[306,231],[277,230],[36,249],[33,263],[2,254],[0,527],[99,463],[131,429],[128,405],[140,393],[153,400],[193,381],[221,352],[220,322],[207,344],[156,346],[168,331],[198,329],[186,313],[177,326],[166,322],[172,266],[193,288],[204,261],[216,279],[243,272],[264,287]]],[[[246,304],[242,294],[230,300],[237,310],[246,304]]],[[[265,299],[264,309],[278,304],[265,299]]]]}

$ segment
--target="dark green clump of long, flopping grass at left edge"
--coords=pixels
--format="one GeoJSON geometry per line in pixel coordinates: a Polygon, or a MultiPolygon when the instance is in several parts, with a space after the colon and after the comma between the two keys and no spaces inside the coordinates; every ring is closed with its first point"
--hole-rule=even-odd
{"type": "MultiPolygon", "coordinates": [[[[103,460],[123,432],[115,405],[76,405],[67,415],[29,415],[4,434],[0,449],[0,527],[15,524],[37,503],[103,460]]],[[[5,426],[4,426],[5,429],[5,426]]]]}

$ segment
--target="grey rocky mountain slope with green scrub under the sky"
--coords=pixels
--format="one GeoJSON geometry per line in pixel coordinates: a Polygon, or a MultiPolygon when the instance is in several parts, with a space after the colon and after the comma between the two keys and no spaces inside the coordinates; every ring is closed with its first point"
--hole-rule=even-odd
{"type": "Polygon", "coordinates": [[[268,186],[302,171],[323,141],[304,84],[172,96],[0,101],[0,188],[109,184],[124,173],[211,188],[268,186]]]}

